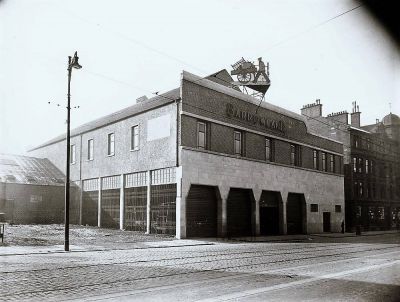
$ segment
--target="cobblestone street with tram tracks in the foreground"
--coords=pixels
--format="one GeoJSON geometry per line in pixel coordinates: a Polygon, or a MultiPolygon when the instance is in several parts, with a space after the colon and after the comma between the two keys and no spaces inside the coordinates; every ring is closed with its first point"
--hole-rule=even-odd
{"type": "Polygon", "coordinates": [[[399,301],[399,233],[298,238],[3,249],[0,300],[399,301]]]}

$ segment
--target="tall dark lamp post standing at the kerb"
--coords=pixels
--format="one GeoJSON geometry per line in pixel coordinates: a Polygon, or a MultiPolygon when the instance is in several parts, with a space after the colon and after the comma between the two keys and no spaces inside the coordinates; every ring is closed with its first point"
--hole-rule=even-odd
{"type": "Polygon", "coordinates": [[[69,251],[69,165],[70,165],[70,117],[71,117],[71,73],[72,68],[81,69],[82,66],[78,63],[78,54],[75,51],[74,57],[68,57],[68,105],[67,105],[67,165],[65,175],[65,238],[64,250],[69,251]]]}

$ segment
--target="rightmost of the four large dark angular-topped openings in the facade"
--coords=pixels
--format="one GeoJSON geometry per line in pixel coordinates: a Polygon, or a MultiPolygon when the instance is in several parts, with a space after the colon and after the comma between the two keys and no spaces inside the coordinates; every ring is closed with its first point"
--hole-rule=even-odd
{"type": "Polygon", "coordinates": [[[305,221],[304,194],[289,193],[286,204],[287,234],[303,234],[305,221]]]}

